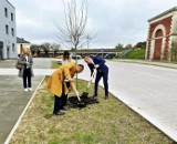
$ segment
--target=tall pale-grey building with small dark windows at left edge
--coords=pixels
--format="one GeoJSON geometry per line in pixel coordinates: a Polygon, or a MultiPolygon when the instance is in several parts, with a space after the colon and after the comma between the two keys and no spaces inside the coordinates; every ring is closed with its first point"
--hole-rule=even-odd
{"type": "Polygon", "coordinates": [[[15,8],[0,0],[0,60],[17,58],[15,8]]]}

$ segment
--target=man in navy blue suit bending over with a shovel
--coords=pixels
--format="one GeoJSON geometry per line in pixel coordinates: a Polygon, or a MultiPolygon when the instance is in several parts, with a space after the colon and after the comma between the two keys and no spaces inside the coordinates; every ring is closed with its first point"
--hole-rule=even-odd
{"type": "Polygon", "coordinates": [[[94,72],[94,69],[96,69],[96,79],[95,79],[95,90],[94,90],[94,96],[97,96],[97,88],[98,88],[98,82],[101,78],[103,78],[104,82],[104,90],[105,90],[105,99],[108,99],[108,68],[105,64],[105,60],[102,59],[101,56],[85,56],[84,61],[87,63],[90,70],[91,70],[91,75],[94,72]]]}

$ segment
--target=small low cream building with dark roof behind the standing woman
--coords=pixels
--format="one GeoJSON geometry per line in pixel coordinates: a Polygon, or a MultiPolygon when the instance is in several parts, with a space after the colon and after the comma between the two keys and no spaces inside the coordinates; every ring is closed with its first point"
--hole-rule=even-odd
{"type": "Polygon", "coordinates": [[[17,52],[18,52],[18,55],[22,54],[27,48],[30,49],[30,47],[31,47],[30,42],[25,41],[23,38],[18,38],[17,37],[17,52]]]}

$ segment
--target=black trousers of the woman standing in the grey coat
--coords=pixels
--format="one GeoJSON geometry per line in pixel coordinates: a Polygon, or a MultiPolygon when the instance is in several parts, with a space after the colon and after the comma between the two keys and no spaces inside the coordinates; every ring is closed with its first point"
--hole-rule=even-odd
{"type": "Polygon", "coordinates": [[[24,69],[23,72],[23,88],[31,88],[31,71],[30,69],[24,69]]]}

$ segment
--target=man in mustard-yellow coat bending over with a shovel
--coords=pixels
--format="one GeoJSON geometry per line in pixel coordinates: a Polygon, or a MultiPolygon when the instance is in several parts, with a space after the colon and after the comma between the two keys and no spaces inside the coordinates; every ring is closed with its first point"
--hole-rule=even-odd
{"type": "Polygon", "coordinates": [[[66,82],[70,82],[71,89],[79,96],[73,78],[75,73],[81,73],[83,70],[84,65],[76,64],[75,62],[67,62],[55,70],[49,78],[48,88],[50,89],[51,93],[54,94],[54,115],[64,115],[64,112],[61,112],[60,109],[62,106],[62,95],[66,95],[69,93],[66,82]]]}

